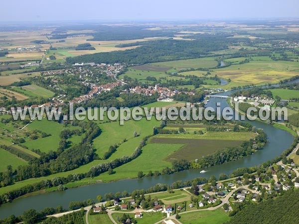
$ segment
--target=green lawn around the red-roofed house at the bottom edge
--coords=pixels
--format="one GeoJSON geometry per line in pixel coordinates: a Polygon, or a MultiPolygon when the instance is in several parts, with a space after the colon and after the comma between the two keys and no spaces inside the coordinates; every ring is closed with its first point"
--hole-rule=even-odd
{"type": "MultiPolygon", "coordinates": [[[[162,216],[161,212],[150,212],[150,213],[146,213],[143,212],[143,217],[140,219],[136,219],[138,224],[154,224],[162,219],[164,219],[164,217],[162,216]]],[[[134,218],[135,214],[129,214],[131,218],[134,218]]],[[[118,222],[118,218],[121,219],[123,217],[123,213],[113,213],[112,214],[113,219],[115,220],[115,222],[118,222]]],[[[106,224],[106,223],[105,223],[106,224]]]]}

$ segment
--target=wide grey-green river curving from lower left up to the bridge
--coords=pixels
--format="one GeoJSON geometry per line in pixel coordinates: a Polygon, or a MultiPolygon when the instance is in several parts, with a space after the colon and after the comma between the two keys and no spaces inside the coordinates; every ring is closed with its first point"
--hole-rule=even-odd
{"type": "MultiPolygon", "coordinates": [[[[231,91],[227,91],[221,93],[221,95],[229,96],[231,93],[231,91]]],[[[216,102],[221,102],[221,107],[228,106],[226,99],[220,98],[210,98],[207,106],[215,107],[216,102]]],[[[28,196],[26,198],[18,198],[13,200],[11,203],[1,205],[0,219],[6,218],[12,214],[16,216],[21,215],[29,208],[41,211],[46,207],[55,208],[58,205],[62,205],[65,209],[67,209],[68,204],[71,201],[96,199],[97,195],[104,195],[105,193],[109,192],[132,192],[135,189],[148,189],[157,183],[171,184],[178,180],[185,181],[195,177],[209,178],[211,175],[218,177],[220,173],[230,174],[233,170],[239,167],[256,166],[267,160],[271,160],[280,155],[293,143],[294,137],[287,131],[275,128],[259,121],[250,121],[250,123],[258,128],[263,128],[269,139],[263,150],[259,150],[246,158],[210,167],[207,169],[208,172],[206,173],[199,173],[199,169],[185,170],[171,175],[160,175],[158,177],[149,177],[144,179],[127,179],[110,183],[98,183],[94,185],[68,189],[63,192],[51,192],[48,194],[39,194],[28,196]]]]}

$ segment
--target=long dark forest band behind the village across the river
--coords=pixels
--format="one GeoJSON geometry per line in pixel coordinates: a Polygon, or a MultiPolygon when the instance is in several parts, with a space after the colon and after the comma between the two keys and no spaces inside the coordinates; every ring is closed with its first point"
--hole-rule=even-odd
{"type": "Polygon", "coordinates": [[[154,40],[139,42],[142,46],[125,51],[102,52],[77,57],[68,57],[68,64],[95,62],[95,63],[126,63],[146,64],[159,61],[199,58],[210,51],[228,48],[225,36],[214,36],[199,40],[154,40]],[[213,41],[211,41],[213,39],[213,41]],[[147,52],[145,54],[145,52],[147,52]]]}

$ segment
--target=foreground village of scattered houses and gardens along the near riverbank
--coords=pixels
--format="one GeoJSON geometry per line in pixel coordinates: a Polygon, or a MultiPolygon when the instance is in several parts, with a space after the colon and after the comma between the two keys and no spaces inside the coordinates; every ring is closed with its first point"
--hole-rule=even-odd
{"type": "MultiPolygon", "coordinates": [[[[113,200],[106,200],[86,207],[90,215],[108,214],[114,224],[122,223],[115,217],[127,214],[125,224],[134,224],[138,219],[150,216],[161,216],[157,223],[178,221],[179,215],[190,212],[222,209],[225,213],[233,213],[240,205],[260,203],[269,198],[279,197],[285,191],[299,188],[298,167],[292,159],[273,164],[265,172],[245,174],[242,177],[216,181],[191,187],[171,189],[167,192],[145,194],[143,190],[134,191],[131,197],[120,198],[116,193],[113,200]],[[130,217],[130,218],[129,218],[130,217]]],[[[109,194],[110,195],[110,194],[109,194]]],[[[105,195],[105,199],[107,199],[105,195]]]]}

